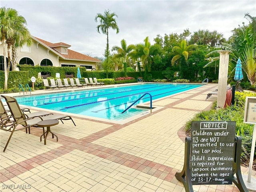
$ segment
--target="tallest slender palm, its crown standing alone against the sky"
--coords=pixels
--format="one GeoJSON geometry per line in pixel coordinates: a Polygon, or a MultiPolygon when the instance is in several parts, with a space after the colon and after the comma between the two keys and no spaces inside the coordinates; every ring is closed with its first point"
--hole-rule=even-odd
{"type": "Polygon", "coordinates": [[[119,28],[116,22],[116,19],[118,18],[115,12],[111,13],[110,10],[105,10],[104,14],[97,13],[95,16],[95,22],[98,22],[98,19],[100,21],[100,24],[97,26],[97,31],[100,33],[100,31],[103,34],[107,35],[107,44],[106,44],[106,50],[105,50],[105,57],[106,60],[108,60],[108,57],[110,56],[109,52],[109,42],[108,42],[108,30],[109,28],[112,28],[113,30],[116,30],[116,34],[119,33],[119,28]]]}

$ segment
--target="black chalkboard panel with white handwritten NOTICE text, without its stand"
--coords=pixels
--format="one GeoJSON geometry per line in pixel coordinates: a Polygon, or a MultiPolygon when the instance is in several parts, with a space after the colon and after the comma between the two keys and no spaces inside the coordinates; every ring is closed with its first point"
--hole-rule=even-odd
{"type": "Polygon", "coordinates": [[[232,184],[236,122],[193,121],[190,172],[193,185],[232,184]]]}

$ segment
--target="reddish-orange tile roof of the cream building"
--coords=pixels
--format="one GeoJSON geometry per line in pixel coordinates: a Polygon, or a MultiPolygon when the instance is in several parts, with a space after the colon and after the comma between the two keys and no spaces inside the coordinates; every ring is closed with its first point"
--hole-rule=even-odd
{"type": "Polygon", "coordinates": [[[98,60],[96,58],[90,57],[88,55],[73,51],[71,49],[68,49],[68,54],[61,54],[58,50],[54,49],[54,47],[58,46],[64,46],[64,47],[70,47],[69,44],[58,42],[58,43],[51,43],[46,40],[42,40],[38,37],[33,36],[36,40],[40,41],[42,44],[49,47],[49,49],[53,50],[54,52],[57,52],[59,55],[61,55],[64,59],[67,60],[85,60],[85,61],[92,61],[92,62],[101,62],[101,60],[98,60]]]}

